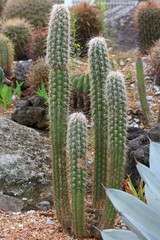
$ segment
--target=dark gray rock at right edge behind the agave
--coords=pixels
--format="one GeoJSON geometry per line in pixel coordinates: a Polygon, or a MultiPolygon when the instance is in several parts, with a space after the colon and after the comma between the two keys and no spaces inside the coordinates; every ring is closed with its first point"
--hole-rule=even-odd
{"type": "Polygon", "coordinates": [[[149,144],[150,140],[160,142],[160,124],[148,132],[142,133],[139,137],[127,144],[127,157],[125,162],[125,177],[131,174],[131,180],[135,187],[138,187],[140,176],[136,169],[136,161],[149,165],[149,144]]]}

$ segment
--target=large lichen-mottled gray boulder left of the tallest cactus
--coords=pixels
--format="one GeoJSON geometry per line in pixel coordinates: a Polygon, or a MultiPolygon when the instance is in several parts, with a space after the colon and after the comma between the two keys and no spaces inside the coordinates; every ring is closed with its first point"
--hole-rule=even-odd
{"type": "Polygon", "coordinates": [[[8,195],[22,200],[23,209],[52,203],[48,138],[1,116],[0,139],[0,202],[8,195]]]}

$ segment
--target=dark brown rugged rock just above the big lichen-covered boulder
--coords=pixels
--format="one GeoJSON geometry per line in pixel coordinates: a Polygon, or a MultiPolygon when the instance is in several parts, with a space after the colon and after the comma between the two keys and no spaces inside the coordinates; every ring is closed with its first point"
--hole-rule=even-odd
{"type": "Polygon", "coordinates": [[[28,127],[47,128],[49,120],[46,100],[35,95],[28,100],[18,101],[12,113],[12,120],[28,127]]]}

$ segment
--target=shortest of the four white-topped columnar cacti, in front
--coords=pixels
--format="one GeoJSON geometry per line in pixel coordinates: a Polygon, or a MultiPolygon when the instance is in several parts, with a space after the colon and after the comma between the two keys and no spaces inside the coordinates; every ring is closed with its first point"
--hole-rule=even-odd
{"type": "Polygon", "coordinates": [[[83,113],[73,113],[67,132],[72,226],[77,238],[85,233],[86,123],[83,113]]]}

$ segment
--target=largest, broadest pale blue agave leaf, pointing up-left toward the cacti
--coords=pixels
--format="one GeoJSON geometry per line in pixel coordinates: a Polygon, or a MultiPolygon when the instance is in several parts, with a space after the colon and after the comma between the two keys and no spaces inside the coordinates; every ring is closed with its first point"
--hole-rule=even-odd
{"type": "MultiPolygon", "coordinates": [[[[106,189],[106,188],[105,188],[106,189]]],[[[106,193],[112,201],[114,207],[121,213],[123,219],[129,223],[131,230],[139,233],[140,239],[147,239],[141,235],[141,231],[151,231],[150,235],[155,236],[152,240],[158,240],[160,236],[160,215],[156,213],[150,206],[140,201],[136,197],[117,189],[106,189],[106,193]],[[130,222],[132,220],[132,222],[130,222]],[[133,223],[134,221],[134,223],[133,223]],[[135,224],[135,226],[134,226],[135,224]],[[154,233],[154,234],[152,234],[154,233]]],[[[143,234],[143,233],[142,233],[143,234]]]]}

